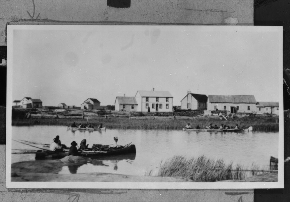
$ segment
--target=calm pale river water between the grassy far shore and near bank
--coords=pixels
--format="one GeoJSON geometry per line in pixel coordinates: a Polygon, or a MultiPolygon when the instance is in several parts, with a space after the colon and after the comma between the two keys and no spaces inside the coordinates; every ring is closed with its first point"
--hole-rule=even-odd
{"type": "MultiPolygon", "coordinates": [[[[198,157],[205,155],[211,159],[221,158],[226,163],[251,167],[254,162],[260,168],[269,167],[270,156],[278,157],[278,133],[243,132],[209,133],[195,131],[168,130],[118,130],[75,131],[65,126],[12,126],[12,139],[50,144],[59,135],[62,144],[78,145],[82,139],[87,144],[111,144],[118,136],[118,144],[130,142],[136,146],[136,155],[125,155],[98,159],[81,166],[64,166],[59,173],[106,172],[124,175],[144,175],[150,170],[156,173],[160,161],[174,155],[198,157]]],[[[12,141],[12,149],[37,149],[12,141]]],[[[12,154],[12,163],[35,160],[35,154],[12,154]]]]}

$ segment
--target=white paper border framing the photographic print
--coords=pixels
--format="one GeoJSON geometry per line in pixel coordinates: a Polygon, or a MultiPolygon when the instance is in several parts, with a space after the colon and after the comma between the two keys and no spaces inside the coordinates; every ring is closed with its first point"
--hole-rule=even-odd
{"type": "MultiPolygon", "coordinates": [[[[7,26],[7,111],[6,111],[6,187],[7,188],[97,188],[97,189],[255,189],[255,188],[284,188],[284,115],[283,115],[283,76],[282,76],[282,47],[283,28],[280,26],[195,26],[201,30],[224,31],[273,31],[280,32],[279,69],[279,163],[278,182],[12,182],[11,181],[11,145],[12,145],[12,47],[14,30],[93,30],[99,25],[8,25],[7,26]]],[[[107,25],[109,26],[109,25],[107,25]]],[[[125,26],[125,25],[112,25],[125,26]]],[[[126,25],[139,26],[139,25],[126,25]]],[[[143,25],[146,26],[146,25],[143,25]]],[[[156,25],[159,26],[159,25],[156,25]]],[[[174,25],[175,26],[175,25],[174,25]]],[[[181,25],[176,25],[182,27],[181,25]]]]}

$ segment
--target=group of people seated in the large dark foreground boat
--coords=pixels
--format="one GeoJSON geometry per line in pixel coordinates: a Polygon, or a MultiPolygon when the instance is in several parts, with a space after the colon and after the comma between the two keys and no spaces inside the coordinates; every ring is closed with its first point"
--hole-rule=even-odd
{"type": "MultiPolygon", "coordinates": [[[[109,148],[113,149],[113,148],[122,148],[123,146],[118,145],[118,137],[114,137],[114,142],[110,145],[108,145],[109,148]]],[[[81,141],[81,143],[79,144],[79,147],[77,146],[77,143],[75,141],[70,143],[70,148],[68,150],[68,156],[73,155],[73,156],[79,156],[79,152],[80,151],[84,151],[84,150],[89,150],[90,148],[88,148],[87,144],[87,140],[83,139],[81,141]],[[78,147],[78,148],[77,148],[78,147]]],[[[61,141],[59,140],[59,136],[57,135],[54,139],[53,142],[50,144],[50,148],[51,151],[53,152],[65,152],[64,149],[68,149],[66,147],[66,145],[61,144],[61,141]]],[[[91,148],[93,149],[93,148],[91,148]]]]}

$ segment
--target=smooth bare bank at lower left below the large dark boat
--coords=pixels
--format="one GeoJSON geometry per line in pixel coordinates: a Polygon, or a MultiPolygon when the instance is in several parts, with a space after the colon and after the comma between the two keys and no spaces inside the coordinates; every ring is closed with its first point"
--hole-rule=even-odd
{"type": "MultiPolygon", "coordinates": [[[[90,160],[90,159],[85,159],[90,160]]],[[[11,181],[30,182],[187,182],[182,177],[132,176],[110,173],[58,174],[63,166],[80,166],[87,161],[68,156],[60,160],[22,161],[11,165],[11,181]],[[77,162],[77,163],[76,163],[77,162]]]]}

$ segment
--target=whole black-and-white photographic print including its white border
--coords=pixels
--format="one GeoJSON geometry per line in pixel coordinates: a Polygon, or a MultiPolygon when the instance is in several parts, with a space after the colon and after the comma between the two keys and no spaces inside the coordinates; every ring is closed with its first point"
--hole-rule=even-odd
{"type": "Polygon", "coordinates": [[[283,188],[282,31],[8,25],[6,187],[283,188]]]}

